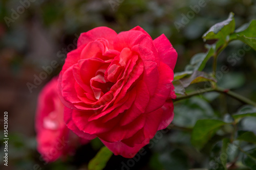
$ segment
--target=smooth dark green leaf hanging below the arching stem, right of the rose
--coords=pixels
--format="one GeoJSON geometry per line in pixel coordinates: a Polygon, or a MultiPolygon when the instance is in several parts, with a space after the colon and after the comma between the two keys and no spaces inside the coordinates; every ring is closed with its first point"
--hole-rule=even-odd
{"type": "Polygon", "coordinates": [[[198,120],[191,135],[191,143],[198,149],[202,149],[212,135],[223,125],[225,122],[215,119],[201,119],[198,120]]]}

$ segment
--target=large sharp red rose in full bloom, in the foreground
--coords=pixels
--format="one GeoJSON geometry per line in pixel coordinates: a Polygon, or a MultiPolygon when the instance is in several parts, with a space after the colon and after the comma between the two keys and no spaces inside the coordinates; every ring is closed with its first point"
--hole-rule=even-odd
{"type": "Polygon", "coordinates": [[[67,126],[132,158],[172,122],[177,53],[161,35],[142,28],[117,34],[98,27],[82,33],[58,79],[67,126]]]}

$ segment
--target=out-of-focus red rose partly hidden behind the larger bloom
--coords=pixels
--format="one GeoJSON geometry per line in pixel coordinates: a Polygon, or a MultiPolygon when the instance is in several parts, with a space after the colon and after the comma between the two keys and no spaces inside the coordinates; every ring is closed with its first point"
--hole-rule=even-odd
{"type": "Polygon", "coordinates": [[[37,104],[35,128],[37,150],[46,162],[52,162],[62,155],[73,153],[79,139],[70,131],[63,120],[64,105],[57,94],[57,78],[53,78],[40,92],[37,104]]]}

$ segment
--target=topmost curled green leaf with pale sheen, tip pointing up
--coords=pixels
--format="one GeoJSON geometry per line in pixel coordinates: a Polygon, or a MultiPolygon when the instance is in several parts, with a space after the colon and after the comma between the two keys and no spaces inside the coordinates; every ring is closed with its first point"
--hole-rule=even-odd
{"type": "Polygon", "coordinates": [[[220,39],[226,41],[227,36],[234,32],[235,27],[234,14],[231,12],[226,20],[212,26],[202,38],[204,40],[220,39]]]}

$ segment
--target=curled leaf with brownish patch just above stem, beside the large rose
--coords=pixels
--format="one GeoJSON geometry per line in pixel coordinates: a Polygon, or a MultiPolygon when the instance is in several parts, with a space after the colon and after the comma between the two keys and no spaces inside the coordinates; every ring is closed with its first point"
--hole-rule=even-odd
{"type": "Polygon", "coordinates": [[[180,81],[182,82],[183,87],[187,87],[190,84],[200,83],[200,82],[208,82],[208,81],[217,82],[214,78],[212,78],[211,76],[209,76],[208,74],[202,71],[195,71],[193,75],[191,75],[188,78],[181,79],[180,81]]]}

